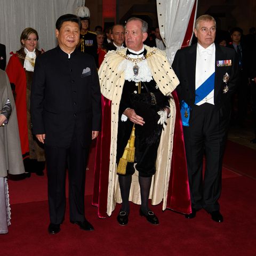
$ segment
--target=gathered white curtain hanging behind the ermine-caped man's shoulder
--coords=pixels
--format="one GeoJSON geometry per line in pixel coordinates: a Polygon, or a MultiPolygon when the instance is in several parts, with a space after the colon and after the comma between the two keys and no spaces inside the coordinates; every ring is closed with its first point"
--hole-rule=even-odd
{"type": "MultiPolygon", "coordinates": [[[[195,0],[156,0],[159,30],[172,63],[185,37],[195,0]]],[[[193,31],[191,31],[191,37],[193,31]]]]}

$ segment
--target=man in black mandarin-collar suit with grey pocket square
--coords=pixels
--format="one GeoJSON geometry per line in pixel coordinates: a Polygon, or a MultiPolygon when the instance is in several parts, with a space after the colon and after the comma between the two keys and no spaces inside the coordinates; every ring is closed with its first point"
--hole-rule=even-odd
{"type": "Polygon", "coordinates": [[[80,28],[76,15],[57,20],[59,45],[36,59],[31,88],[33,133],[45,146],[50,234],[60,231],[65,217],[66,167],[70,222],[93,230],[84,216],[84,187],[90,143],[100,130],[101,94],[93,57],[76,49],[80,28]]]}

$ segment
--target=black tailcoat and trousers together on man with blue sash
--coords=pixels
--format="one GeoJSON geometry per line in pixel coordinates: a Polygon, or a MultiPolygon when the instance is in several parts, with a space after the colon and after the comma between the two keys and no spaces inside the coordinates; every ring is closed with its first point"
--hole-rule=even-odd
{"type": "Polygon", "coordinates": [[[230,118],[230,95],[237,84],[238,61],[234,50],[215,45],[214,105],[196,106],[196,50],[197,44],[194,44],[177,51],[172,67],[180,81],[177,87],[179,100],[191,107],[189,127],[183,126],[183,132],[192,207],[197,210],[204,207],[212,212],[219,210],[222,157],[230,118]],[[231,60],[231,66],[219,66],[219,60],[231,60]],[[227,92],[223,82],[226,73],[230,76],[227,92]],[[204,152],[206,169],[203,181],[204,152]]]}

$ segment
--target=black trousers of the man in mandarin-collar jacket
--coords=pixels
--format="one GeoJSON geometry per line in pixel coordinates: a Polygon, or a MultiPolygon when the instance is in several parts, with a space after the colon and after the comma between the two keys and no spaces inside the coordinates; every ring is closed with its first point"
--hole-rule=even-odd
{"type": "Polygon", "coordinates": [[[89,137],[87,147],[84,148],[79,138],[74,134],[68,148],[45,145],[50,221],[53,224],[62,223],[65,217],[67,168],[70,221],[83,221],[85,218],[85,171],[90,142],[91,137],[89,137]]]}

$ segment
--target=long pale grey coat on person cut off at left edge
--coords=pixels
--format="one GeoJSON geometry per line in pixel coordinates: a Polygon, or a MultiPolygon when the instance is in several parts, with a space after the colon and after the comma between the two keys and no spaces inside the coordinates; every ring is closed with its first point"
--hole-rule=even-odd
{"type": "Polygon", "coordinates": [[[11,102],[12,114],[8,123],[0,127],[0,177],[6,177],[8,173],[24,172],[12,90],[6,73],[0,69],[0,109],[3,108],[8,98],[11,102]]]}

